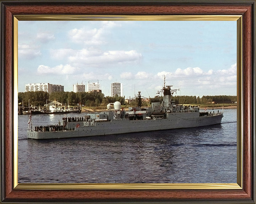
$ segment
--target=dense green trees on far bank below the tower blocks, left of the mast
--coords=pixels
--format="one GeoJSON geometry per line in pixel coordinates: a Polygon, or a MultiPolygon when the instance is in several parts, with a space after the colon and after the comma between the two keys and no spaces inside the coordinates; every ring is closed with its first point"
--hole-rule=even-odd
{"type": "Polygon", "coordinates": [[[84,105],[84,106],[100,106],[107,105],[108,103],[114,103],[119,101],[124,104],[124,97],[116,95],[115,97],[104,96],[101,92],[69,92],[60,91],[52,92],[48,94],[44,91],[28,91],[28,92],[18,92],[18,104],[23,106],[44,106],[46,102],[58,101],[63,105],[84,105]]]}

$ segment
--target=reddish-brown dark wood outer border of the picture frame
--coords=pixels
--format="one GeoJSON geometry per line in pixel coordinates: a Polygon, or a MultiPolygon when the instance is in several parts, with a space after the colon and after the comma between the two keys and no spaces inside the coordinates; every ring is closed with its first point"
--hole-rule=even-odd
{"type": "Polygon", "coordinates": [[[58,1],[0,0],[2,203],[256,203],[255,0],[58,1]],[[13,187],[14,15],[242,15],[242,189],[25,190],[13,187]]]}

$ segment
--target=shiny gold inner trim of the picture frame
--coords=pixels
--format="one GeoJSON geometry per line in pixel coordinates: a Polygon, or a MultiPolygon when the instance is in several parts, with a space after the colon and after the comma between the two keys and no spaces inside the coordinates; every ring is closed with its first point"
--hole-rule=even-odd
{"type": "Polygon", "coordinates": [[[242,16],[14,15],[14,188],[15,189],[242,189],[242,16]],[[237,21],[237,183],[18,183],[18,21],[237,21]]]}

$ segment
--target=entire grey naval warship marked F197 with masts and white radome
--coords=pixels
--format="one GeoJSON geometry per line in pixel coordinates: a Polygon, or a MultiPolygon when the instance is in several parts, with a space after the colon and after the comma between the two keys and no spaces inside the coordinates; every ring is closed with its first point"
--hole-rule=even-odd
{"type": "Polygon", "coordinates": [[[130,132],[194,128],[220,124],[223,112],[200,112],[197,106],[183,106],[172,101],[177,89],[164,85],[160,92],[163,101],[152,102],[151,107],[142,107],[142,98],[138,93],[138,107],[128,111],[121,103],[107,105],[108,111],[85,113],[83,117],[62,118],[57,125],[33,126],[32,117],[28,121],[27,137],[31,139],[70,138],[104,136],[130,132]]]}

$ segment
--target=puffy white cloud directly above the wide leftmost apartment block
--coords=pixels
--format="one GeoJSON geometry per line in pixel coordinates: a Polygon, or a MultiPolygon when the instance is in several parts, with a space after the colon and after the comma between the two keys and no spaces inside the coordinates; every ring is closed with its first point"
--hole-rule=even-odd
{"type": "Polygon", "coordinates": [[[58,65],[55,67],[49,67],[45,65],[39,65],[37,68],[37,73],[40,75],[47,75],[47,74],[54,74],[54,75],[67,75],[67,74],[74,74],[77,71],[77,68],[70,66],[69,64],[66,65],[58,65]]]}

